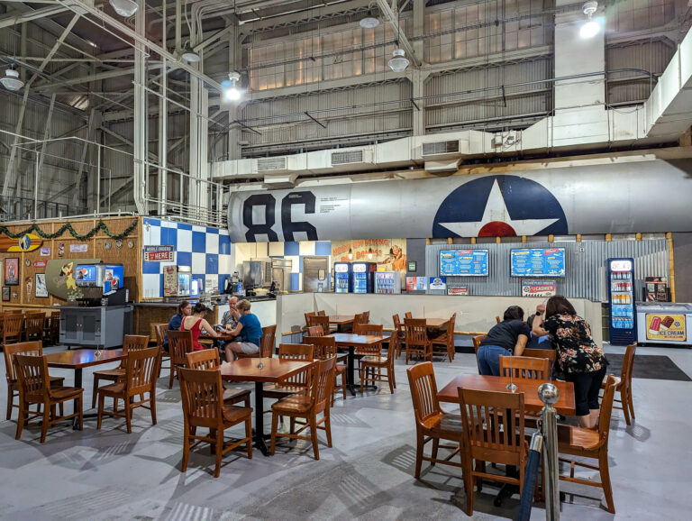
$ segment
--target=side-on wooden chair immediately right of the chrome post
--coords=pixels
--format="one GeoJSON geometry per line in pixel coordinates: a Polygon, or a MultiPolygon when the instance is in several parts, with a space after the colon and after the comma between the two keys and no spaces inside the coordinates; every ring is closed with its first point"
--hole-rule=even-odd
{"type": "Polygon", "coordinates": [[[613,489],[610,484],[610,472],[608,470],[608,434],[610,433],[610,416],[613,413],[613,398],[617,380],[613,375],[608,375],[605,380],[605,391],[601,402],[601,412],[598,416],[598,429],[573,427],[570,425],[558,425],[558,452],[578,458],[593,458],[598,460],[598,465],[589,465],[584,462],[560,458],[560,462],[569,463],[569,476],[560,476],[560,480],[590,487],[600,487],[605,495],[605,504],[608,512],[615,514],[613,502],[613,489]],[[583,480],[574,477],[575,466],[585,467],[593,471],[599,471],[600,483],[593,480],[583,480]]]}

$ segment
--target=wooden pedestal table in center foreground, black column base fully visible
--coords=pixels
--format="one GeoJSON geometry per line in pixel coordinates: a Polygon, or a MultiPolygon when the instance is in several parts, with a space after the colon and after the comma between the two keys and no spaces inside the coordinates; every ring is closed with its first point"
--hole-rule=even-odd
{"type": "Polygon", "coordinates": [[[264,441],[264,384],[278,383],[312,364],[311,361],[281,361],[278,358],[241,358],[222,364],[222,379],[255,382],[255,446],[265,456],[269,456],[269,448],[264,441]],[[259,367],[260,364],[264,367],[259,367]]]}

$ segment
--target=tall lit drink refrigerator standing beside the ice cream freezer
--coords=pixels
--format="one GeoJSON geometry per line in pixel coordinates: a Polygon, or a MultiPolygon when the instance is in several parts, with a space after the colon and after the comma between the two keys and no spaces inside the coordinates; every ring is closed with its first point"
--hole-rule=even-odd
{"type": "Polygon", "coordinates": [[[608,259],[608,328],[612,345],[629,345],[637,340],[634,305],[634,260],[608,259]]]}

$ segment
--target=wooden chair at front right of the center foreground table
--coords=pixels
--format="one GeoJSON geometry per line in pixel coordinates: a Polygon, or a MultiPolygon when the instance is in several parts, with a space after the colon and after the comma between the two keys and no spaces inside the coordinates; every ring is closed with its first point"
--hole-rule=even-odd
{"type": "Polygon", "coordinates": [[[332,446],[332,425],[329,418],[329,408],[334,385],[334,366],[336,358],[315,361],[312,366],[311,385],[309,393],[296,395],[278,400],[271,406],[271,448],[273,454],[277,446],[277,438],[293,438],[312,441],[314,459],[320,459],[317,446],[317,429],[323,429],[327,434],[327,446],[332,446]],[[322,414],[321,419],[317,416],[322,414]],[[290,432],[278,432],[278,416],[288,416],[291,419],[290,432]],[[305,419],[305,424],[296,431],[296,419],[305,419]],[[306,428],[310,428],[310,436],[302,436],[306,428]]]}

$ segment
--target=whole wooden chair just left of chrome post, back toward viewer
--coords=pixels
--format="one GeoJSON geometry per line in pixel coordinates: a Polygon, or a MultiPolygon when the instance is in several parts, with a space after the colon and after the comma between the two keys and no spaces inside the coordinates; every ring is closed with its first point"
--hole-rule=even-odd
{"type": "Polygon", "coordinates": [[[459,401],[466,448],[466,515],[472,516],[474,483],[478,484],[478,490],[482,480],[518,485],[520,495],[524,489],[528,453],[524,439],[524,393],[459,388],[459,401]],[[495,411],[503,414],[497,415],[495,411]],[[486,462],[514,465],[519,469],[519,478],[487,473],[486,462]]]}

